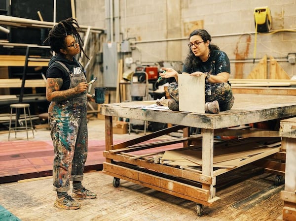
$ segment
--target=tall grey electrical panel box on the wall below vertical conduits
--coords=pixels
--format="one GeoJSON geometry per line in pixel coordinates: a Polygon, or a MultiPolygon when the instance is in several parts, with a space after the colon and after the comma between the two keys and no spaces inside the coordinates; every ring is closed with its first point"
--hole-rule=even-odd
{"type": "Polygon", "coordinates": [[[103,44],[103,86],[106,88],[117,86],[118,56],[116,42],[103,44]]]}

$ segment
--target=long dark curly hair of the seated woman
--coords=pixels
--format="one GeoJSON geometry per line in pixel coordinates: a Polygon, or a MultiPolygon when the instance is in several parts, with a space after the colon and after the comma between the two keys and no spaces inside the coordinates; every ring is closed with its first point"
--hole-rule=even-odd
{"type": "MultiPolygon", "coordinates": [[[[197,29],[197,30],[194,30],[193,32],[191,32],[189,34],[189,38],[192,37],[193,35],[199,35],[201,37],[201,39],[203,41],[207,41],[209,40],[210,44],[209,44],[209,49],[210,49],[210,52],[212,50],[219,50],[220,48],[215,45],[215,44],[211,44],[211,35],[204,29],[197,29]]],[[[188,55],[184,61],[184,65],[188,68],[191,68],[193,70],[193,67],[198,65],[199,63],[201,63],[201,60],[199,57],[196,57],[193,52],[191,51],[191,49],[189,48],[189,52],[188,52],[188,55]]]]}

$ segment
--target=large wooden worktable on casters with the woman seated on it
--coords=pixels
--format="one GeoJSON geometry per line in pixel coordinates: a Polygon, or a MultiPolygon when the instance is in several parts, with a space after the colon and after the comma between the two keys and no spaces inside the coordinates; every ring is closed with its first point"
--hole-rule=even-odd
{"type": "MultiPolygon", "coordinates": [[[[283,119],[296,115],[296,96],[293,95],[236,94],[234,96],[235,101],[232,109],[222,111],[218,115],[187,113],[171,110],[150,110],[143,108],[143,106],[151,104],[145,101],[102,104],[101,114],[105,115],[106,126],[106,151],[104,151],[106,163],[104,163],[103,172],[114,177],[114,186],[117,186],[117,184],[119,185],[119,182],[116,184],[116,181],[118,180],[115,178],[125,179],[152,189],[157,189],[159,191],[197,202],[198,205],[202,204],[211,206],[219,199],[215,192],[216,176],[229,171],[225,169],[214,170],[213,168],[214,130],[274,119],[283,119]],[[170,132],[170,128],[168,128],[168,131],[166,132],[156,132],[155,136],[149,134],[143,136],[142,139],[138,138],[122,144],[113,144],[112,117],[201,128],[201,172],[182,170],[167,165],[147,162],[142,159],[129,159],[131,155],[122,154],[125,148],[128,149],[133,147],[133,145],[135,146],[137,143],[154,138],[156,135],[159,136],[167,134],[170,132]],[[123,164],[118,164],[118,162],[123,162],[123,164]],[[130,165],[138,166],[141,169],[138,170],[137,168],[132,168],[130,165]],[[143,171],[143,168],[147,168],[148,170],[143,171]],[[149,173],[151,170],[157,171],[158,174],[156,172],[149,173]],[[200,183],[201,188],[177,182],[167,176],[161,177],[159,175],[161,173],[193,180],[194,182],[200,183]]],[[[178,127],[176,129],[180,128],[181,127],[178,127]]],[[[188,135],[186,133],[184,134],[185,136],[188,135]]],[[[263,157],[266,157],[266,155],[262,156],[262,158],[263,157]]]]}

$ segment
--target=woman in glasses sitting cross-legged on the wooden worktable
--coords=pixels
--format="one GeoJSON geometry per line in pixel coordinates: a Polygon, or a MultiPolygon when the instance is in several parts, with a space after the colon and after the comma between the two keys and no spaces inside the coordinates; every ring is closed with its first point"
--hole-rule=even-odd
{"type": "MultiPolygon", "coordinates": [[[[203,29],[195,30],[189,35],[189,53],[185,59],[183,72],[191,76],[205,75],[205,112],[219,114],[220,110],[229,110],[234,96],[228,82],[230,63],[227,55],[219,47],[211,44],[211,35],[203,29]]],[[[172,68],[162,68],[162,78],[175,77],[168,87],[172,99],[168,101],[171,110],[179,110],[178,72],[172,68]]]]}

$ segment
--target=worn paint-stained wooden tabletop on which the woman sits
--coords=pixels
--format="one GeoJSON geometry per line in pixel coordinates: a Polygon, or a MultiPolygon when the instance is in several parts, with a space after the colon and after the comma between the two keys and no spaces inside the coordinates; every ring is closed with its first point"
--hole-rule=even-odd
{"type": "Polygon", "coordinates": [[[235,94],[236,101],[228,111],[219,115],[197,114],[182,111],[158,111],[139,107],[143,102],[123,102],[120,104],[102,104],[101,113],[137,120],[157,121],[175,125],[218,129],[229,126],[244,125],[267,120],[294,116],[296,113],[296,96],[282,95],[243,95],[235,94]],[[258,101],[258,102],[255,102],[258,101]]]}

